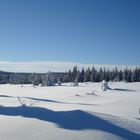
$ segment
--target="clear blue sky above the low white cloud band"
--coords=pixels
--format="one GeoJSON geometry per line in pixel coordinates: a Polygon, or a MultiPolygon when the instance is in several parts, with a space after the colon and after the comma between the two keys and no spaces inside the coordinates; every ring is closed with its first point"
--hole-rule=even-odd
{"type": "Polygon", "coordinates": [[[0,61],[140,65],[140,1],[0,0],[0,61]]]}

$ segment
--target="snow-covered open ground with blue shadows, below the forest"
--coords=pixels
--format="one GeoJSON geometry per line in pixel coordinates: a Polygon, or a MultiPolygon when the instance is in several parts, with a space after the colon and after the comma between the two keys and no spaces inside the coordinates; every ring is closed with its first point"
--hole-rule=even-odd
{"type": "Polygon", "coordinates": [[[140,140],[140,83],[100,86],[0,85],[0,140],[140,140]]]}

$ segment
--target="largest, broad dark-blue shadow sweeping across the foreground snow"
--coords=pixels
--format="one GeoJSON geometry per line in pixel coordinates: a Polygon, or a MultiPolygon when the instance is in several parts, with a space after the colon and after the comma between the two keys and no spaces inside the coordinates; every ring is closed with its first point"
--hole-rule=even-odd
{"type": "Polygon", "coordinates": [[[22,116],[35,118],[46,122],[55,123],[58,127],[69,130],[101,130],[128,140],[139,140],[140,135],[130,132],[124,128],[115,126],[110,122],[81,110],[53,111],[41,107],[2,107],[0,115],[22,116]]]}

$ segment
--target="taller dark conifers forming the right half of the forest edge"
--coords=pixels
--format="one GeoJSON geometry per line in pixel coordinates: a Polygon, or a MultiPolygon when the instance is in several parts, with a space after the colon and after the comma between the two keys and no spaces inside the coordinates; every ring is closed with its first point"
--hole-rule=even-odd
{"type": "Polygon", "coordinates": [[[79,82],[101,82],[106,81],[126,81],[126,82],[140,82],[140,68],[136,67],[134,70],[125,68],[124,70],[118,70],[114,68],[113,70],[100,68],[99,70],[95,69],[93,66],[92,69],[84,68],[79,71],[77,66],[74,66],[73,71],[66,73],[63,78],[64,82],[74,82],[78,78],[79,82]]]}

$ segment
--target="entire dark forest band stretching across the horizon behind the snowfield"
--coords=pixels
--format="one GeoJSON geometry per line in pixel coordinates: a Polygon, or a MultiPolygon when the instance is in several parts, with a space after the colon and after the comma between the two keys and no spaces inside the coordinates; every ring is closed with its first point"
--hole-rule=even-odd
{"type": "MultiPolygon", "coordinates": [[[[0,71],[0,84],[44,84],[46,82],[47,73],[12,73],[0,71]]],[[[51,73],[53,82],[101,82],[106,81],[126,81],[126,82],[140,82],[140,68],[135,69],[125,68],[118,70],[115,67],[112,70],[106,68],[99,68],[98,70],[93,66],[92,68],[78,70],[74,66],[73,70],[62,73],[51,73]]],[[[52,80],[51,80],[52,81],[52,80]]]]}

